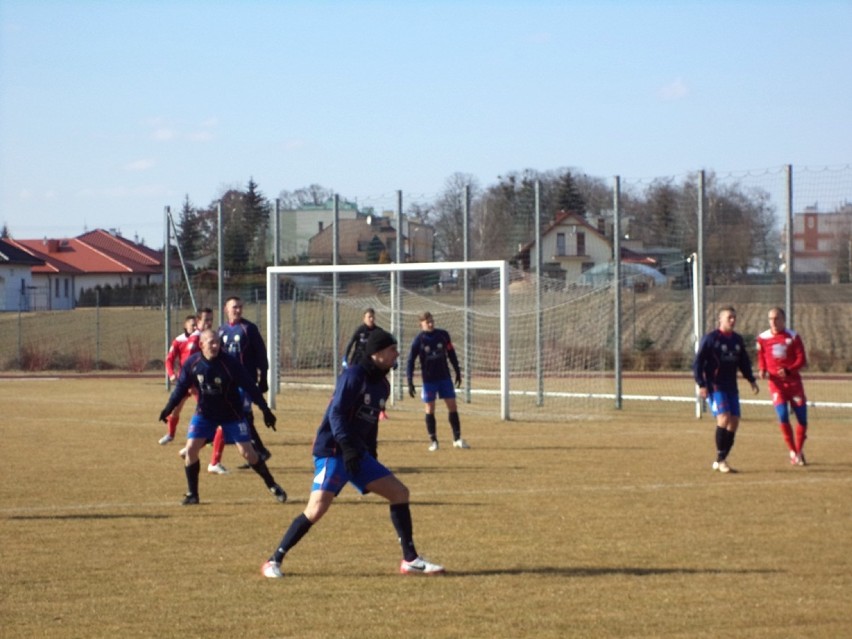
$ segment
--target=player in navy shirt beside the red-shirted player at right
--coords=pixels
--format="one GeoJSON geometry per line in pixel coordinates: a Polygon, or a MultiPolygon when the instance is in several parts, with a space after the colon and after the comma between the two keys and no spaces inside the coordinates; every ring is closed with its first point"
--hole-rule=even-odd
{"type": "Polygon", "coordinates": [[[727,459],[740,425],[737,371],[748,380],[755,393],[760,391],[751,370],[745,342],[739,333],[734,332],[736,323],[737,312],[732,306],[721,309],[719,328],[702,338],[692,365],[701,398],[710,403],[710,409],[716,417],[716,461],[713,462],[713,470],[722,473],[733,472],[727,459]]]}

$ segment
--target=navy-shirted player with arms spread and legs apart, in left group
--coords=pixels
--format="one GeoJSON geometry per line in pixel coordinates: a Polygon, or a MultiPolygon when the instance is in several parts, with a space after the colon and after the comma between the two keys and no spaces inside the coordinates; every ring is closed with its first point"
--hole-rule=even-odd
{"type": "Polygon", "coordinates": [[[200,352],[194,353],[184,362],[169,401],[160,412],[160,421],[165,422],[187,392],[190,389],[197,390],[198,405],[187,432],[185,471],[188,492],[183,505],[198,503],[198,451],[208,440],[213,439],[218,426],[222,427],[225,441],[237,445],[240,454],[254,472],[261,476],[269,492],[284,503],[287,501],[287,493],[275,483],[266,462],[258,456],[251,444],[243,395],[247,395],[260,407],[263,421],[269,428],[275,428],[275,415],[269,410],[266,400],[243,366],[235,358],[220,353],[219,339],[213,331],[202,331],[198,345],[200,352]]]}

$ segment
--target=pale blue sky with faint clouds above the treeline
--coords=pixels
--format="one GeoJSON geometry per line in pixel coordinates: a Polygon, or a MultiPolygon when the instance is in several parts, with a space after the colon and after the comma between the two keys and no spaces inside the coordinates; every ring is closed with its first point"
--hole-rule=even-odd
{"type": "Polygon", "coordinates": [[[118,228],[250,177],[392,207],[456,172],[852,161],[852,0],[0,0],[0,223],[118,228]]]}

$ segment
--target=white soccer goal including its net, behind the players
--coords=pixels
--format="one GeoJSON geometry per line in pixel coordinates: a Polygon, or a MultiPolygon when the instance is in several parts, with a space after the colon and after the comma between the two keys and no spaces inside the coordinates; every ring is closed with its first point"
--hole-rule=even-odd
{"type": "MultiPolygon", "coordinates": [[[[466,411],[570,419],[611,407],[613,304],[608,284],[536,281],[504,261],[267,269],[270,400],[333,387],[366,308],[400,345],[392,401],[407,400],[405,367],[430,311],[462,367],[466,411]]],[[[415,372],[419,387],[419,370],[415,372]]],[[[420,409],[419,400],[412,406],[420,409]]]]}

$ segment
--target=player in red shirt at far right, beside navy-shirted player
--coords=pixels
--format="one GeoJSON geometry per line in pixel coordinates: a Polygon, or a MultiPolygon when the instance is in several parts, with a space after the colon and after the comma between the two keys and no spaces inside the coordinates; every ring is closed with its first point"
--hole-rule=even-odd
{"type": "Polygon", "coordinates": [[[757,367],[763,379],[769,378],[772,403],[794,466],[805,465],[802,447],[807,439],[808,400],[799,371],[807,364],[805,345],[798,333],[786,328],[784,309],[777,306],[770,309],[769,330],[757,336],[757,367]],[[793,407],[798,422],[795,436],[789,406],[793,407]]]}

